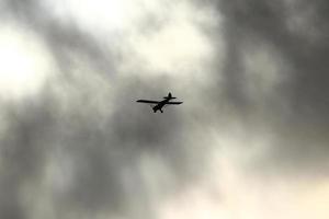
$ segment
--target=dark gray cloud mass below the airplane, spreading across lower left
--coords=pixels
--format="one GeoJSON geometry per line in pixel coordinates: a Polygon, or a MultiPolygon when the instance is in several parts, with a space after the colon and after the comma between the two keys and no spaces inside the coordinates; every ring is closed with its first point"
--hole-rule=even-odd
{"type": "MultiPolygon", "coordinates": [[[[60,103],[47,89],[36,102],[26,101],[19,107],[8,108],[10,126],[1,140],[4,174],[0,185],[5,191],[0,206],[2,217],[26,217],[22,189],[37,189],[44,181],[49,158],[54,154],[56,161],[52,162],[56,165],[67,162],[72,164],[71,169],[64,166],[60,170],[70,174],[67,192],[48,197],[58,210],[58,217],[64,218],[71,211],[94,215],[111,210],[125,215],[136,206],[137,209],[145,209],[138,212],[141,214],[140,218],[150,217],[152,209],[149,208],[149,201],[152,196],[140,172],[144,154],[154,154],[158,158],[156,160],[160,159],[159,162],[175,173],[172,176],[181,183],[192,176],[183,161],[186,154],[179,139],[184,130],[179,125],[177,113],[168,112],[170,117],[155,117],[149,114],[148,106],[133,108],[131,105],[141,95],[129,92],[129,96],[128,90],[123,87],[112,100],[113,114],[111,117],[105,116],[105,120],[97,112],[89,113],[87,108],[92,106],[88,103],[86,108],[71,105],[69,111],[60,112],[60,103]],[[129,174],[124,176],[125,172],[129,174]],[[138,201],[132,203],[132,196],[138,196],[138,201]]],[[[83,95],[79,99],[83,99],[83,95]]],[[[54,186],[50,185],[50,188],[55,189],[54,186]]],[[[164,191],[175,187],[166,182],[159,182],[158,186],[163,189],[162,196],[166,195],[164,191]]]]}

